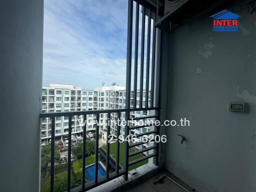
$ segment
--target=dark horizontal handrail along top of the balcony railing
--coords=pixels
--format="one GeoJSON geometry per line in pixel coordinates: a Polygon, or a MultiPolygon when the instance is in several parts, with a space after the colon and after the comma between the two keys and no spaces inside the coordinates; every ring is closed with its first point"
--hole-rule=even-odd
{"type": "Polygon", "coordinates": [[[147,108],[118,108],[118,109],[102,109],[102,110],[79,110],[79,111],[63,111],[63,112],[47,112],[40,113],[40,118],[43,117],[56,117],[56,116],[70,116],[70,115],[81,115],[81,114],[99,114],[108,112],[127,112],[127,111],[138,111],[138,110],[157,110],[158,107],[147,107],[147,108]]]}

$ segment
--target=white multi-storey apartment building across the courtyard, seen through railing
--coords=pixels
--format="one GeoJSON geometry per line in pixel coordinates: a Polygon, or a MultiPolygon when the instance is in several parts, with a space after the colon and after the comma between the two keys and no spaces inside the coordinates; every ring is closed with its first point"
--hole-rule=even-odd
{"type": "MultiPolygon", "coordinates": [[[[150,93],[149,93],[150,101],[150,93]]],[[[131,103],[133,102],[133,91],[131,91],[131,103]]],[[[137,91],[136,104],[139,104],[139,91],[137,91]]],[[[150,102],[149,102],[150,104],[150,102]]],[[[143,107],[145,105],[145,90],[143,90],[143,107]]],[[[94,90],[85,90],[73,84],[50,83],[49,87],[42,87],[42,112],[79,111],[79,110],[100,110],[116,109],[125,107],[125,87],[124,86],[100,86],[94,90]]],[[[148,115],[148,111],[132,111],[132,117],[148,115]]],[[[72,134],[80,134],[83,130],[80,115],[72,116],[72,134]]],[[[111,120],[117,120],[117,114],[111,113],[111,120]]],[[[121,119],[124,113],[121,113],[121,119]]],[[[106,134],[107,114],[102,113],[100,119],[100,135],[106,134]]],[[[88,123],[86,131],[94,131],[96,128],[95,114],[87,115],[88,123]]],[[[132,126],[132,125],[131,125],[132,126]]],[[[116,124],[110,127],[110,133],[116,135],[116,124]]],[[[133,129],[131,134],[148,131],[149,127],[133,129]]],[[[55,136],[62,137],[68,134],[68,116],[56,117],[55,136]]],[[[120,134],[124,134],[124,127],[121,127],[120,134]]],[[[41,139],[49,139],[51,136],[51,119],[41,120],[41,139]]]]}

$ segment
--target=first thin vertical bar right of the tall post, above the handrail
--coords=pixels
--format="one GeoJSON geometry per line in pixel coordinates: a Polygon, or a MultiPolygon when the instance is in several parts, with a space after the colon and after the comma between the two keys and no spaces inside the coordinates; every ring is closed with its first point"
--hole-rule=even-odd
{"type": "Polygon", "coordinates": [[[135,50],[134,50],[134,85],[133,85],[133,108],[136,108],[136,105],[137,105],[138,19],[139,19],[139,3],[138,3],[138,2],[136,2],[136,18],[135,18],[135,50]]]}

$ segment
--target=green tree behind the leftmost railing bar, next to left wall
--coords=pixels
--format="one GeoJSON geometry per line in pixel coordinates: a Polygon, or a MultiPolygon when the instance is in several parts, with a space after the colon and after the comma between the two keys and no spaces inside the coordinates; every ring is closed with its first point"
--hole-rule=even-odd
{"type": "MultiPolygon", "coordinates": [[[[50,162],[51,144],[45,144],[41,149],[41,166],[47,166],[50,162]]],[[[59,148],[57,143],[54,146],[54,159],[57,160],[59,157],[59,148]]]]}

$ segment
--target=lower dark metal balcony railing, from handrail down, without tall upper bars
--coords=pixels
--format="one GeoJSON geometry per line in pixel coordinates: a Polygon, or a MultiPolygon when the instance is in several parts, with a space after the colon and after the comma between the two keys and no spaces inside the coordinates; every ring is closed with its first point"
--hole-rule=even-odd
{"type": "MultiPolygon", "coordinates": [[[[157,151],[153,152],[151,154],[148,155],[143,155],[140,158],[137,158],[133,161],[129,161],[128,158],[130,156],[136,155],[136,154],[142,154],[145,151],[148,150],[152,150],[152,149],[156,149],[157,150],[157,145],[153,145],[150,147],[146,147],[144,149],[141,150],[135,150],[132,153],[129,153],[129,148],[131,147],[135,147],[138,145],[141,145],[143,143],[146,143],[144,141],[140,141],[140,142],[135,142],[135,143],[131,143],[129,144],[128,141],[124,141],[125,144],[125,152],[124,152],[124,161],[127,163],[124,163],[124,167],[123,168],[119,168],[121,167],[119,164],[119,155],[120,155],[120,150],[119,150],[119,134],[120,134],[120,125],[117,126],[117,132],[116,132],[116,159],[115,159],[115,172],[109,172],[109,159],[110,159],[110,155],[109,155],[109,134],[110,134],[110,124],[107,125],[107,135],[106,135],[106,174],[105,177],[101,177],[98,178],[98,150],[99,150],[99,144],[98,144],[98,140],[99,140],[99,124],[96,125],[96,129],[95,129],[95,142],[96,142],[96,146],[95,146],[95,168],[94,168],[94,180],[87,182],[85,184],[85,147],[86,147],[86,123],[84,123],[84,127],[83,127],[83,150],[82,150],[82,180],[81,180],[81,186],[78,186],[76,188],[73,188],[71,190],[70,188],[70,173],[71,173],[71,133],[72,133],[72,116],[74,115],[83,115],[83,121],[86,122],[87,119],[87,115],[88,114],[95,114],[96,115],[96,121],[99,122],[99,116],[102,113],[106,113],[108,119],[110,119],[110,113],[117,113],[117,120],[121,120],[121,113],[125,112],[129,113],[130,111],[137,111],[137,110],[158,110],[157,107],[150,107],[150,108],[124,108],[124,109],[105,109],[105,110],[87,110],[87,111],[66,111],[66,112],[52,112],[52,113],[41,113],[40,114],[40,118],[45,118],[45,117],[49,117],[51,118],[51,159],[50,159],[50,191],[54,191],[54,147],[55,147],[55,118],[59,117],[59,116],[68,116],[68,152],[67,152],[67,191],[85,191],[88,190],[90,188],[93,188],[97,185],[100,185],[102,183],[105,183],[111,179],[114,179],[118,176],[121,175],[126,175],[125,178],[127,179],[127,175],[128,175],[128,167],[138,163],[140,161],[143,161],[145,159],[154,157],[157,155],[157,151]]],[[[126,116],[126,115],[125,115],[126,116]]],[[[151,116],[143,116],[143,117],[136,117],[133,118],[133,120],[139,120],[139,119],[146,119],[146,118],[158,118],[157,115],[151,115],[151,116]]],[[[130,118],[128,118],[128,120],[130,120],[130,118]]],[[[137,128],[142,128],[142,127],[147,127],[147,126],[153,126],[153,124],[144,124],[144,125],[139,125],[139,126],[133,126],[133,127],[129,127],[129,126],[125,126],[125,134],[129,132],[129,130],[132,129],[137,129],[137,128]]],[[[158,132],[158,128],[159,127],[154,127],[154,130],[152,131],[148,131],[148,132],[142,132],[139,134],[136,134],[136,137],[140,137],[143,135],[148,135],[148,134],[156,134],[158,132]]],[[[156,158],[157,159],[157,158],[156,158]]],[[[157,160],[156,160],[157,161],[157,160]]]]}

